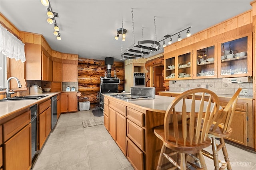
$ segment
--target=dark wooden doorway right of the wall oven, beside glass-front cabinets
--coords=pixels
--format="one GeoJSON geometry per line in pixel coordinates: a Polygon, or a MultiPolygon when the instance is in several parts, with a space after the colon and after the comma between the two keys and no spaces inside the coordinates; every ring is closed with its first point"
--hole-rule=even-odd
{"type": "Polygon", "coordinates": [[[158,92],[164,91],[164,77],[163,77],[163,65],[153,66],[153,87],[156,87],[156,95],[158,92]]]}

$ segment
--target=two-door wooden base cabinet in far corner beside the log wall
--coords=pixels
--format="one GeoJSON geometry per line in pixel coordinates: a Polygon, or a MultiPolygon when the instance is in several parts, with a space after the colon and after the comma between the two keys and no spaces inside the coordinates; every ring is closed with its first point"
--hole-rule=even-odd
{"type": "Polygon", "coordinates": [[[60,97],[61,113],[77,111],[77,93],[62,92],[60,97]]]}

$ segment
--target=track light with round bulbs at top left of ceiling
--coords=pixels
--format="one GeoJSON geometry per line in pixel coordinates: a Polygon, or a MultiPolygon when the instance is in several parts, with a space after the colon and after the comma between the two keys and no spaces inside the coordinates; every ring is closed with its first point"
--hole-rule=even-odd
{"type": "Polygon", "coordinates": [[[54,32],[53,32],[53,34],[57,36],[57,39],[58,39],[58,40],[61,40],[61,37],[60,37],[60,28],[58,27],[58,25],[57,25],[57,23],[56,23],[56,19],[55,19],[55,17],[59,17],[59,16],[58,16],[58,13],[52,11],[52,6],[51,6],[49,0],[41,0],[41,3],[42,3],[44,6],[48,6],[48,8],[47,8],[47,13],[46,13],[46,14],[47,14],[47,16],[48,16],[49,18],[47,18],[46,21],[47,21],[48,23],[50,23],[50,24],[52,24],[53,21],[54,21],[54,32]]]}

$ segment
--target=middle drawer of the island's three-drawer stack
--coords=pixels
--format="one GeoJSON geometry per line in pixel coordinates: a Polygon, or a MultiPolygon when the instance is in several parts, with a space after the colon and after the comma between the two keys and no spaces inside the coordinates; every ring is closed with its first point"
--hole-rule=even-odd
{"type": "Polygon", "coordinates": [[[127,120],[127,136],[141,149],[144,150],[145,130],[129,119],[127,120]]]}

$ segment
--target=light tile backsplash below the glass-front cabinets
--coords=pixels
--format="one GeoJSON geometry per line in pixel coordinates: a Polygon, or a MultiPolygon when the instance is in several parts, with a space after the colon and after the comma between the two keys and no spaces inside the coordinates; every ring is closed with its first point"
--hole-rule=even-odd
{"type": "Polygon", "coordinates": [[[170,80],[169,88],[171,92],[182,92],[193,88],[204,88],[204,86],[212,90],[216,94],[233,95],[240,88],[248,89],[248,96],[253,96],[253,83],[226,83],[222,82],[222,78],[206,78],[191,80],[170,80]],[[173,83],[174,81],[174,83],[173,83]]]}

